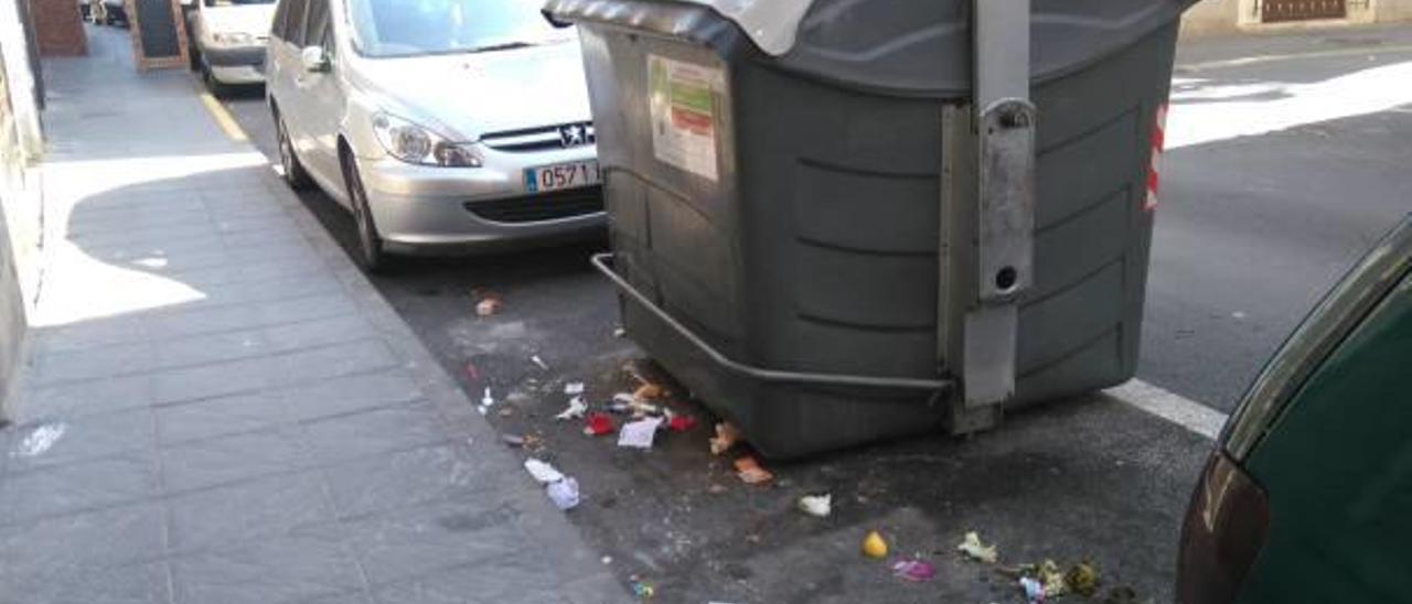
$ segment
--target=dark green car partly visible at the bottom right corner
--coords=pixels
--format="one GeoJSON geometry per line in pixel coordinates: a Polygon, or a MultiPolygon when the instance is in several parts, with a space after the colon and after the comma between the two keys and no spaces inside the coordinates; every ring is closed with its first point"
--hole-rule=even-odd
{"type": "Polygon", "coordinates": [[[1226,423],[1182,528],[1176,600],[1412,601],[1412,215],[1226,423]]]}

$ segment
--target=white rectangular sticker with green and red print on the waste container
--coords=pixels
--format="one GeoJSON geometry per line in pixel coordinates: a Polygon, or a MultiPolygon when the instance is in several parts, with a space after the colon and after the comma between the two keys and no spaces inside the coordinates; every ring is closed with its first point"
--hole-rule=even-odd
{"type": "Polygon", "coordinates": [[[716,181],[716,99],[724,89],[722,69],[647,55],[652,154],[658,159],[716,181]]]}

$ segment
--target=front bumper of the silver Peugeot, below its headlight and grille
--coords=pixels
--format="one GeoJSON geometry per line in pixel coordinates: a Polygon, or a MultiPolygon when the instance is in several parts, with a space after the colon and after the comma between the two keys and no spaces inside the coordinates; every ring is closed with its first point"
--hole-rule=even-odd
{"type": "MultiPolygon", "coordinates": [[[[546,162],[592,158],[561,154],[546,162]]],[[[439,168],[383,158],[360,161],[359,174],[373,222],[394,251],[513,247],[606,231],[600,188],[530,193],[522,168],[439,168]]]]}

